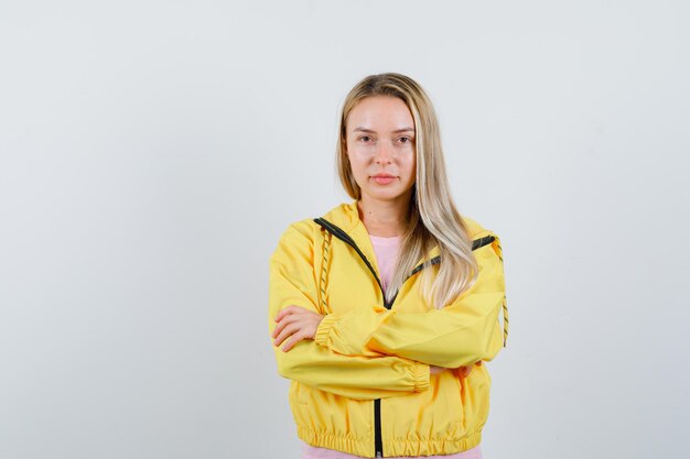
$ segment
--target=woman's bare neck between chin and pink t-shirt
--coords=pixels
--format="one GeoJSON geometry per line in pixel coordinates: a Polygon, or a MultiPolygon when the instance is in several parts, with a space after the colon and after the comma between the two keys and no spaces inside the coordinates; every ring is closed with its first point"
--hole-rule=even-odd
{"type": "Polygon", "coordinates": [[[357,201],[359,219],[371,236],[391,238],[400,236],[407,226],[410,196],[380,200],[363,195],[357,201]]]}

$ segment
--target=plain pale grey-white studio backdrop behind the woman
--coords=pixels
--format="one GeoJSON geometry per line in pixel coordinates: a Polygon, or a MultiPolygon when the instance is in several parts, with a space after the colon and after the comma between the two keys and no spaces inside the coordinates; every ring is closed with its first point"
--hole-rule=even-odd
{"type": "Polygon", "coordinates": [[[374,73],[500,236],[486,459],[687,458],[690,8],[3,1],[0,459],[298,458],[268,260],[374,73]],[[97,4],[98,3],[98,4],[97,4]]]}

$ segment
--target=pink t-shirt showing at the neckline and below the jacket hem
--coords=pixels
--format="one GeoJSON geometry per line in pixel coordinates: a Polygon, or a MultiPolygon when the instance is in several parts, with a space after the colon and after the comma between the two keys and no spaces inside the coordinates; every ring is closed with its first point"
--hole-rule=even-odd
{"type": "MultiPolygon", "coordinates": [[[[378,264],[378,271],[384,286],[384,291],[388,288],[390,280],[393,275],[393,269],[398,261],[398,245],[400,244],[400,236],[393,238],[380,238],[378,236],[369,234],[371,244],[374,245],[374,253],[376,254],[376,262],[378,264]]],[[[362,456],[353,456],[347,452],[336,451],[328,448],[317,448],[300,440],[302,445],[302,459],[362,459],[362,456]]],[[[405,458],[410,458],[406,456],[405,458]]],[[[454,455],[445,456],[420,456],[423,459],[482,459],[482,449],[479,445],[466,451],[456,452],[454,455]]],[[[392,459],[402,459],[392,458],[392,459]]]]}

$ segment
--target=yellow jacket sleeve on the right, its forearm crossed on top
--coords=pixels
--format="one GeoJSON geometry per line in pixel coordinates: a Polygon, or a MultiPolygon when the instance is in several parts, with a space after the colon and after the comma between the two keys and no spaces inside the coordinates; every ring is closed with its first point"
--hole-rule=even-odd
{"type": "Polygon", "coordinates": [[[493,360],[507,336],[503,253],[493,236],[494,242],[474,252],[478,264],[474,285],[452,304],[425,313],[362,306],[330,314],[316,329],[316,343],[346,356],[397,356],[444,368],[493,360]]]}

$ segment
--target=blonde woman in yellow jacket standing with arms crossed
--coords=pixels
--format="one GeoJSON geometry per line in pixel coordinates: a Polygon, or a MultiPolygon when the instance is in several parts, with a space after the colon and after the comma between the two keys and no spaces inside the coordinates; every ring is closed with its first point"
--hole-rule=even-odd
{"type": "Polygon", "coordinates": [[[411,78],[359,81],[336,150],[353,201],[290,225],[270,260],[269,331],[302,458],[481,458],[483,362],[507,337],[499,239],[456,210],[411,78]]]}

